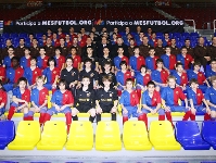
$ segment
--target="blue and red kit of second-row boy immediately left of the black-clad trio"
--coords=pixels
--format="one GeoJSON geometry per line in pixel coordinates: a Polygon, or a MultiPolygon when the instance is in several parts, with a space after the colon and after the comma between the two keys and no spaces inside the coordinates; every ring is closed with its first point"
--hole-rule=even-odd
{"type": "Polygon", "coordinates": [[[47,67],[43,70],[42,75],[47,78],[47,83],[45,84],[45,87],[49,90],[52,89],[52,85],[55,80],[56,76],[60,76],[60,70],[58,67],[54,67],[52,71],[50,67],[47,67]]]}

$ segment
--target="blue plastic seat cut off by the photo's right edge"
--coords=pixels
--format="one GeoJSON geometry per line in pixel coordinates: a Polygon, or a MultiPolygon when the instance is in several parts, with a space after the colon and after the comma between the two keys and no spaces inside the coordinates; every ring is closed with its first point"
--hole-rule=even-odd
{"type": "Polygon", "coordinates": [[[216,150],[216,122],[204,121],[202,124],[202,136],[216,150]]]}

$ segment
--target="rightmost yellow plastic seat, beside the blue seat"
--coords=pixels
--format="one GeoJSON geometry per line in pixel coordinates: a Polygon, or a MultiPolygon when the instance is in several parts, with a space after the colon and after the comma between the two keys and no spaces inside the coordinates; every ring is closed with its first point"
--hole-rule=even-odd
{"type": "Polygon", "coordinates": [[[150,125],[150,141],[155,150],[180,150],[174,128],[168,121],[154,121],[150,125]]]}

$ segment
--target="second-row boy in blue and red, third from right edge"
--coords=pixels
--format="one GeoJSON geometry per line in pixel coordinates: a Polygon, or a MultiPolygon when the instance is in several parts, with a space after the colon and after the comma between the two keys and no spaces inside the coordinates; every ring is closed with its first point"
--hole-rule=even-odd
{"type": "Polygon", "coordinates": [[[171,75],[176,77],[177,86],[181,87],[182,90],[186,90],[186,88],[188,86],[188,75],[183,71],[183,64],[182,63],[176,64],[176,71],[173,71],[171,75]]]}

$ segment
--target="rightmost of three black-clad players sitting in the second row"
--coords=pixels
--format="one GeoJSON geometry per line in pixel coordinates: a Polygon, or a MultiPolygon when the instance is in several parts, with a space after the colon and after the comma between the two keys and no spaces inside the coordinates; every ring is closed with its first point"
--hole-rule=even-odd
{"type": "Polygon", "coordinates": [[[111,67],[112,67],[111,62],[104,62],[104,66],[103,66],[104,71],[103,71],[103,73],[99,74],[99,86],[100,87],[104,87],[103,77],[109,76],[110,78],[112,78],[112,83],[111,83],[110,87],[116,88],[116,85],[117,85],[116,77],[115,77],[115,74],[111,72],[111,67]]]}

